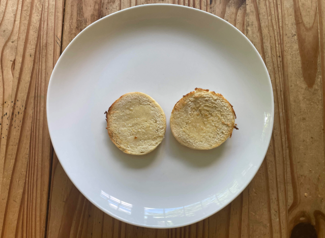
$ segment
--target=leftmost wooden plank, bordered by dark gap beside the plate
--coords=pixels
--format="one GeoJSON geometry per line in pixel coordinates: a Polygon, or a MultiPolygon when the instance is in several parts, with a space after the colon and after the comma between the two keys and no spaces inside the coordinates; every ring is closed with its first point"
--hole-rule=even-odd
{"type": "Polygon", "coordinates": [[[1,237],[44,237],[52,158],[45,102],[49,77],[61,51],[63,2],[3,3],[1,237]]]}

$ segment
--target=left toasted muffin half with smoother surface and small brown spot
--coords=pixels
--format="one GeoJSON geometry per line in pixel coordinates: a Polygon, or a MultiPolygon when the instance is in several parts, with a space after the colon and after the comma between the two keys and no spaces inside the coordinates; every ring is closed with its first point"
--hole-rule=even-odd
{"type": "Polygon", "coordinates": [[[105,113],[109,137],[124,153],[148,154],[164,138],[165,113],[153,98],[144,93],[123,95],[105,113]]]}

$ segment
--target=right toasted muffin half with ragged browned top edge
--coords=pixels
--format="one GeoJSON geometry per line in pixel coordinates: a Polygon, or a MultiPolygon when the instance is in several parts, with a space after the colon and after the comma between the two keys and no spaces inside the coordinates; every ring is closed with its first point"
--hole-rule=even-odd
{"type": "Polygon", "coordinates": [[[235,112],[221,95],[202,88],[183,96],[170,116],[174,137],[195,150],[210,150],[231,136],[235,112]]]}

